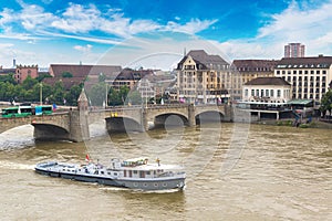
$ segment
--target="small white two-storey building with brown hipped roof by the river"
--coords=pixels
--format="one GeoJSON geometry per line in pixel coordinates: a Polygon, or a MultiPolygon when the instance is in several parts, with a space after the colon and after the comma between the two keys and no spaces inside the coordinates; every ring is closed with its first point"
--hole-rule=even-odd
{"type": "Polygon", "coordinates": [[[291,84],[282,77],[257,77],[243,84],[242,102],[284,105],[291,99],[291,84]]]}

